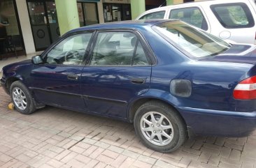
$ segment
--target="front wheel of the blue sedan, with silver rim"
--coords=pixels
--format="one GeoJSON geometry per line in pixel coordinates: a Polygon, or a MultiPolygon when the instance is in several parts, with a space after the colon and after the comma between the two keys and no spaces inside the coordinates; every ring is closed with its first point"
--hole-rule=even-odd
{"type": "Polygon", "coordinates": [[[10,96],[13,100],[13,105],[18,112],[22,114],[31,114],[36,110],[33,98],[22,82],[15,81],[10,85],[10,96]]]}

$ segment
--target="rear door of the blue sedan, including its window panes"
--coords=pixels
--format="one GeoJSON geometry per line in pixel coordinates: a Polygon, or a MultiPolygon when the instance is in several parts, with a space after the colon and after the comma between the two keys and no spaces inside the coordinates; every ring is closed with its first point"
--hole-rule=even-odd
{"type": "Polygon", "coordinates": [[[88,110],[125,118],[131,99],[148,91],[150,74],[150,61],[134,32],[99,32],[82,72],[88,110]]]}

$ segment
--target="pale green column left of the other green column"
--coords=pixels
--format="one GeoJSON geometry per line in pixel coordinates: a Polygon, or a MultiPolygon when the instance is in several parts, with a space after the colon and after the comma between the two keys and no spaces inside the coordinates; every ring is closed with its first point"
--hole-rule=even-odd
{"type": "Polygon", "coordinates": [[[55,0],[55,4],[61,35],[80,27],[76,0],[55,0]]]}

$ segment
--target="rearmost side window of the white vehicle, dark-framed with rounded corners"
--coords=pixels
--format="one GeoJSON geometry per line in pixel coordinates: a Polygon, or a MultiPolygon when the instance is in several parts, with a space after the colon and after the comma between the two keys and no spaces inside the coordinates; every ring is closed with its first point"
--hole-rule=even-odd
{"type": "Polygon", "coordinates": [[[253,15],[246,3],[227,3],[212,5],[211,10],[220,24],[227,29],[254,26],[253,15]]]}

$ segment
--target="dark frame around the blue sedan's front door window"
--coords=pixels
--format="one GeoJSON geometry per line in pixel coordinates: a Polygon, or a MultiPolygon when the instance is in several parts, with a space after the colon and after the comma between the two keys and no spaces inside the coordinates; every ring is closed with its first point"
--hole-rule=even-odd
{"type": "MultiPolygon", "coordinates": [[[[59,38],[58,40],[55,41],[55,43],[52,43],[52,45],[50,45],[50,47],[48,47],[48,49],[46,49],[40,56],[41,59],[45,60],[45,57],[48,55],[48,53],[55,48],[57,45],[59,45],[59,43],[62,43],[62,41],[66,40],[66,38],[69,38],[71,36],[76,36],[78,34],[85,34],[85,33],[92,33],[92,36],[89,40],[89,43],[87,45],[87,47],[85,48],[85,54],[83,56],[83,61],[80,65],[76,65],[76,66],[85,66],[85,60],[88,57],[89,54],[89,50],[90,50],[90,46],[92,45],[92,40],[94,39],[95,33],[96,31],[77,31],[77,32],[73,32],[73,33],[66,33],[64,34],[64,36],[62,36],[62,38],[59,38]]],[[[50,64],[50,63],[45,63],[43,62],[41,65],[55,65],[55,66],[75,66],[73,64],[70,65],[64,65],[64,64],[50,64]]]]}

